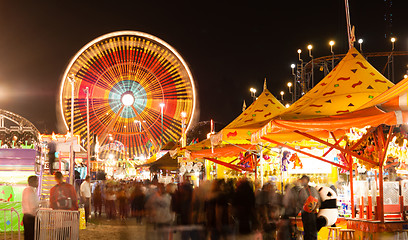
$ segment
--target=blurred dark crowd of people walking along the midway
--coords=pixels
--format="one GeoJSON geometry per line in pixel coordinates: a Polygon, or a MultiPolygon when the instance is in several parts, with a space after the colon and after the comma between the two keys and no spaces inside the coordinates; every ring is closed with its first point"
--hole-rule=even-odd
{"type": "MultiPolygon", "coordinates": [[[[262,235],[263,239],[295,238],[289,217],[302,210],[305,239],[317,239],[316,212],[302,207],[309,195],[319,200],[305,176],[285,187],[273,182],[262,187],[248,179],[203,181],[194,187],[188,181],[164,185],[153,181],[97,181],[93,186],[95,217],[135,218],[157,234],[180,231],[182,239],[229,239],[237,235],[262,235]],[[255,186],[256,185],[256,186],[255,186]]],[[[319,204],[319,203],[317,203],[319,204]]],[[[315,206],[316,208],[318,206],[315,206]]],[[[159,236],[160,239],[160,236],[159,236]]]]}

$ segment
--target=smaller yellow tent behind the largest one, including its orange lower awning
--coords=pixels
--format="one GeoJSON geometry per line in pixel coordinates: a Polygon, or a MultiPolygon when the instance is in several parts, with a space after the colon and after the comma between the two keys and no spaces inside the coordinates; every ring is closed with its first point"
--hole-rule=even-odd
{"type": "Polygon", "coordinates": [[[241,157],[254,150],[251,145],[251,134],[265,125],[273,117],[281,113],[285,107],[266,88],[266,80],[261,95],[236,119],[210,139],[187,146],[185,149],[190,159],[207,159],[233,170],[248,170],[240,165],[252,161],[249,157],[241,157]]]}

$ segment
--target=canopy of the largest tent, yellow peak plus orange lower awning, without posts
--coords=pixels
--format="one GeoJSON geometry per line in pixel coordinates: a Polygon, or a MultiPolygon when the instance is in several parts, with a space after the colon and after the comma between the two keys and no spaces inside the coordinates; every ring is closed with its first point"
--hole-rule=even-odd
{"type": "Polygon", "coordinates": [[[402,121],[400,112],[386,113],[375,105],[361,109],[392,86],[393,83],[351,48],[314,88],[252,134],[252,143],[267,142],[289,147],[289,143],[309,141],[327,146],[339,144],[353,127],[398,124],[402,121]],[[359,108],[361,110],[356,111],[359,108]]]}

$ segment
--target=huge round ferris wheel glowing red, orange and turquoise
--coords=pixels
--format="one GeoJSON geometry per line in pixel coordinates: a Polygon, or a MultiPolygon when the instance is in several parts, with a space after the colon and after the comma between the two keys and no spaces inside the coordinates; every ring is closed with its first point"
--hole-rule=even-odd
{"type": "Polygon", "coordinates": [[[73,129],[81,139],[87,136],[87,94],[90,133],[101,146],[122,143],[123,157],[129,158],[178,141],[193,120],[196,104],[194,80],[180,54],[163,40],[137,31],[91,41],[65,70],[60,110],[69,129],[74,96],[73,129]]]}

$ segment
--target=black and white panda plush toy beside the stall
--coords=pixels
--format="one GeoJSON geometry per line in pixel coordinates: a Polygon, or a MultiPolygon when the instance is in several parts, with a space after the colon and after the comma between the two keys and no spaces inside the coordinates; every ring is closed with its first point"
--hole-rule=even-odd
{"type": "Polygon", "coordinates": [[[316,227],[320,231],[322,227],[332,226],[337,221],[337,194],[329,187],[317,187],[320,198],[322,200],[317,214],[316,227]]]}

